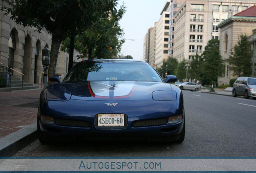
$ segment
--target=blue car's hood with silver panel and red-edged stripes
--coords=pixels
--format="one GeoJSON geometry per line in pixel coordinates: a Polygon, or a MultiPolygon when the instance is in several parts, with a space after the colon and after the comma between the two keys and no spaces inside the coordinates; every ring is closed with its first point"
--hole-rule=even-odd
{"type": "Polygon", "coordinates": [[[152,99],[154,91],[171,90],[163,82],[91,81],[53,84],[47,88],[51,95],[59,91],[71,95],[70,99],[89,101],[130,101],[152,99]]]}

